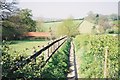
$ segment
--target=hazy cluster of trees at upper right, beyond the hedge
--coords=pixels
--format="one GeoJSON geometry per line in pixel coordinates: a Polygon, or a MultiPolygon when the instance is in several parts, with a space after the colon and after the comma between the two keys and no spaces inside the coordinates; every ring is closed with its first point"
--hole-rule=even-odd
{"type": "Polygon", "coordinates": [[[88,12],[88,15],[85,17],[85,20],[94,24],[93,33],[94,34],[104,34],[104,33],[119,33],[118,31],[118,15],[102,15],[93,13],[92,11],[88,12]],[[97,28],[97,26],[99,26],[97,28]],[[97,29],[99,33],[97,32],[97,29]]]}

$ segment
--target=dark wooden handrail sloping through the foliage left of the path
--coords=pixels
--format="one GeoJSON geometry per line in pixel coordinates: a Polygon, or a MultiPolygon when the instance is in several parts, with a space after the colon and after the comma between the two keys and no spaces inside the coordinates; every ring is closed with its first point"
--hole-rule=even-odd
{"type": "MultiPolygon", "coordinates": [[[[36,52],[35,54],[31,55],[31,56],[30,56],[29,58],[27,58],[26,60],[18,62],[14,67],[12,67],[12,68],[10,69],[10,74],[13,73],[14,71],[18,70],[19,67],[23,67],[23,66],[25,66],[26,64],[30,63],[30,62],[32,61],[32,59],[35,59],[36,57],[38,57],[40,54],[42,54],[43,51],[47,50],[47,49],[48,49],[49,47],[51,47],[52,45],[54,45],[55,43],[57,43],[57,42],[65,39],[65,38],[67,38],[67,36],[64,36],[64,37],[62,37],[62,38],[60,38],[60,39],[55,40],[55,41],[52,42],[51,44],[48,44],[47,46],[45,46],[45,47],[43,47],[42,49],[40,49],[40,50],[39,50],[38,52],[36,52]]],[[[66,41],[66,40],[65,40],[65,41],[66,41]]],[[[64,42],[65,42],[65,41],[64,41],[64,42]]],[[[63,42],[63,43],[64,43],[64,42],[63,42]]],[[[62,44],[63,44],[63,43],[62,43],[62,44]]],[[[62,45],[62,44],[61,44],[61,45],[62,45]]],[[[61,46],[61,45],[60,45],[60,46],[61,46]]],[[[59,48],[60,46],[58,46],[58,48],[59,48]]],[[[58,48],[57,48],[57,49],[58,49],[58,48]]],[[[55,50],[53,51],[53,54],[56,52],[57,49],[55,49],[55,50]]],[[[53,54],[52,54],[52,55],[53,55],[53,54]]],[[[50,56],[50,58],[51,58],[51,56],[50,56]]],[[[49,58],[47,59],[47,61],[48,61],[48,60],[49,60],[49,58]]],[[[47,61],[46,61],[46,63],[47,63],[47,61]]]]}

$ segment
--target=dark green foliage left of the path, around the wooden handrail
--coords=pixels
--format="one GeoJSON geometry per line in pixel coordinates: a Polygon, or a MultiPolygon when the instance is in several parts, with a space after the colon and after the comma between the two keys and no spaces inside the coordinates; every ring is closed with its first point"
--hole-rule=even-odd
{"type": "MultiPolygon", "coordinates": [[[[19,67],[14,73],[10,73],[11,67],[14,67],[16,63],[24,61],[27,57],[27,53],[14,51],[9,47],[11,42],[2,42],[2,77],[14,78],[14,79],[35,79],[35,78],[66,78],[68,70],[68,54],[70,48],[70,41],[66,42],[58,52],[56,52],[47,65],[41,69],[44,64],[44,56],[41,55],[33,59],[29,64],[24,67],[19,67]]],[[[47,79],[49,80],[49,79],[47,79]]]]}

